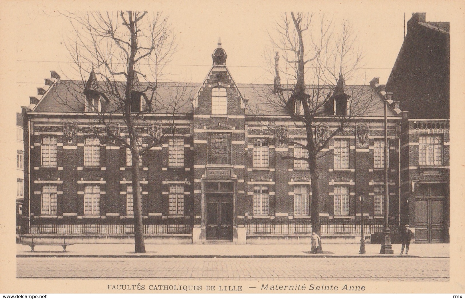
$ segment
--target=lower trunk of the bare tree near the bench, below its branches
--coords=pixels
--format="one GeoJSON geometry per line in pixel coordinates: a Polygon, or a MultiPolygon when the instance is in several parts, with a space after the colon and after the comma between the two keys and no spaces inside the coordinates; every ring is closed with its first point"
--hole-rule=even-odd
{"type": "MultiPolygon", "coordinates": [[[[136,141],[134,141],[136,142],[136,141]]],[[[135,145],[137,146],[137,144],[135,145]]],[[[138,152],[132,151],[132,173],[133,173],[133,207],[134,207],[134,246],[135,253],[145,253],[144,225],[142,223],[142,196],[140,192],[140,156],[138,152]]]]}

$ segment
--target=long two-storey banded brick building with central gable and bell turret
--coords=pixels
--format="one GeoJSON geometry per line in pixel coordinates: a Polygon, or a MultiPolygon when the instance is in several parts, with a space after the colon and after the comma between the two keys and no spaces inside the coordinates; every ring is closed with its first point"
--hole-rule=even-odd
{"type": "MultiPolygon", "coordinates": [[[[184,108],[175,114],[146,116],[142,144],[148,143],[151,123],[169,131],[161,144],[142,156],[147,242],[308,242],[310,175],[304,162],[283,158],[305,155],[305,150],[280,143],[277,136],[277,130],[285,127],[290,138],[300,140],[305,129],[282,113],[252,113],[249,107],[260,102],[263,92],[272,96],[273,85],[236,84],[220,45],[212,57],[205,81],[190,84],[195,90],[183,98],[184,108]]],[[[70,92],[64,87],[69,81],[55,72],[51,77],[38,89],[40,96],[31,97],[30,108],[23,108],[25,161],[30,166],[30,175],[25,175],[29,205],[23,212],[28,216],[23,218],[23,233],[127,236],[133,232],[133,215],[126,148],[100,144],[89,135],[96,114],[86,111],[84,91],[72,95],[82,103],[70,110],[58,101],[70,92]]],[[[328,154],[318,161],[321,234],[327,242],[359,241],[362,188],[365,234],[382,231],[385,100],[393,228],[400,216],[399,103],[383,91],[377,78],[370,85],[345,88],[373,98],[375,105],[334,136],[323,150],[328,154]]],[[[170,89],[173,84],[159,84],[159,93],[170,89]]],[[[337,128],[334,113],[319,119],[329,132],[337,128]]],[[[120,136],[127,134],[122,122],[119,128],[120,136]]]]}

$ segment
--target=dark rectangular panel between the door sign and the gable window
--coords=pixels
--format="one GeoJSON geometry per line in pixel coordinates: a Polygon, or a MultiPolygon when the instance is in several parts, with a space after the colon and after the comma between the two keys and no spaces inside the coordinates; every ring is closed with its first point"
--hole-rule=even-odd
{"type": "Polygon", "coordinates": [[[208,164],[231,164],[231,135],[212,134],[208,136],[208,164]]]}

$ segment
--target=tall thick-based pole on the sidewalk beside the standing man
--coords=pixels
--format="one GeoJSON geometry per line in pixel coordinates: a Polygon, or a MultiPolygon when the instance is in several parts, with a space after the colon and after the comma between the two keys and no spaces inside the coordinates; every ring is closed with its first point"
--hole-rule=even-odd
{"type": "Polygon", "coordinates": [[[384,226],[383,240],[381,241],[380,254],[394,254],[391,244],[391,231],[389,230],[389,189],[387,184],[387,163],[388,163],[388,146],[387,146],[387,98],[384,99],[384,226]]]}

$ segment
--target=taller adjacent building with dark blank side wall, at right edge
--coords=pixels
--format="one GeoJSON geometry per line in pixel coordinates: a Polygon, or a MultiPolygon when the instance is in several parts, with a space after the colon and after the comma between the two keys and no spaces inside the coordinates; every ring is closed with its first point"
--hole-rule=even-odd
{"type": "Polygon", "coordinates": [[[401,223],[419,243],[449,241],[449,78],[449,23],[413,13],[385,89],[403,110],[401,223]]]}

